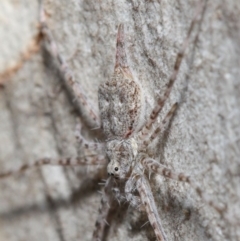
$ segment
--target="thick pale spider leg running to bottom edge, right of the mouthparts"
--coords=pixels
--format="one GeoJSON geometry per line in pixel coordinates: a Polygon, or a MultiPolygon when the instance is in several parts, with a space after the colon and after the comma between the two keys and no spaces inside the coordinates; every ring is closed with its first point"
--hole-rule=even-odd
{"type": "Polygon", "coordinates": [[[141,201],[147,212],[149,222],[154,229],[157,241],[166,241],[166,235],[163,232],[161,220],[152,195],[152,191],[150,189],[148,181],[144,176],[138,179],[137,190],[140,194],[141,201]]]}

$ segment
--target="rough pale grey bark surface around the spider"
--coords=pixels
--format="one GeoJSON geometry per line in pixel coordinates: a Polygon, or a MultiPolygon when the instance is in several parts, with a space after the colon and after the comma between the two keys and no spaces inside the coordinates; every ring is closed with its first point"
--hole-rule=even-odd
{"type": "MultiPolygon", "coordinates": [[[[44,7],[60,53],[96,109],[98,85],[113,72],[117,26],[124,23],[128,61],[150,113],[166,89],[197,4],[46,0],[44,7]]],[[[162,164],[191,175],[226,210],[220,214],[187,184],[153,175],[168,240],[240,240],[240,2],[205,4],[159,121],[174,102],[179,109],[153,151],[162,164]]],[[[38,14],[37,1],[0,2],[1,172],[41,157],[76,156],[79,116],[83,134],[94,137],[51,59],[35,46],[38,14]]],[[[0,241],[91,240],[104,176],[99,172],[44,167],[0,180],[0,241]]],[[[143,213],[119,210],[106,240],[155,240],[143,213]]]]}

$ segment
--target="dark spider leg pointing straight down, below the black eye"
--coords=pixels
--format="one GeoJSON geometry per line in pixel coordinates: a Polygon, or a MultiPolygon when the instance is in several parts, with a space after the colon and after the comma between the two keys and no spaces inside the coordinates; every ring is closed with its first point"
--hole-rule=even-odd
{"type": "Polygon", "coordinates": [[[109,177],[105,184],[101,198],[101,205],[98,209],[99,214],[95,223],[92,241],[103,240],[105,227],[106,225],[108,225],[107,217],[114,203],[113,196],[111,195],[111,191],[114,184],[113,181],[114,180],[111,177],[109,177]]]}

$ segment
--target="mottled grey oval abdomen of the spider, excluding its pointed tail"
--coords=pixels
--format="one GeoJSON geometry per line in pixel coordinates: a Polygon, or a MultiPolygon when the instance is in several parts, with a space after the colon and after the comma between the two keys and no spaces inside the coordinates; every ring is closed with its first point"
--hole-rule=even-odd
{"type": "Polygon", "coordinates": [[[139,124],[143,97],[128,70],[115,69],[112,79],[99,87],[101,125],[107,138],[128,138],[139,124]]]}

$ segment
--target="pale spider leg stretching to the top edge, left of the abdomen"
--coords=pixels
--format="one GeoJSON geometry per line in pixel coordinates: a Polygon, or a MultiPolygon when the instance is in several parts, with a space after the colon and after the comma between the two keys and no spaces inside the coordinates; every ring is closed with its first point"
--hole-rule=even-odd
{"type": "Polygon", "coordinates": [[[81,111],[83,111],[83,113],[85,114],[88,123],[91,123],[91,125],[93,125],[94,127],[99,127],[100,120],[98,115],[95,113],[94,109],[90,105],[81,85],[74,80],[74,77],[71,73],[71,70],[68,67],[68,64],[58,52],[57,44],[54,42],[52,34],[45,20],[43,0],[40,0],[40,32],[44,37],[45,42],[48,43],[49,53],[51,54],[53,59],[56,59],[59,65],[59,70],[62,73],[65,83],[71,87],[74,95],[76,96],[77,101],[79,102],[79,105],[81,107],[81,111]]]}

